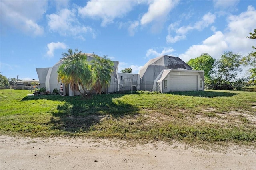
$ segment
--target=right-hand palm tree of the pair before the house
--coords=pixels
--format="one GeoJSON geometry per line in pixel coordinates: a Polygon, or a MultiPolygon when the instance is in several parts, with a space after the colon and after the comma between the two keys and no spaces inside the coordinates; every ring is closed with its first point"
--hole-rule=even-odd
{"type": "Polygon", "coordinates": [[[94,55],[91,64],[94,84],[92,90],[95,89],[96,94],[101,94],[102,87],[107,87],[111,81],[111,74],[114,72],[114,63],[107,55],[104,55],[103,57],[94,55]]]}

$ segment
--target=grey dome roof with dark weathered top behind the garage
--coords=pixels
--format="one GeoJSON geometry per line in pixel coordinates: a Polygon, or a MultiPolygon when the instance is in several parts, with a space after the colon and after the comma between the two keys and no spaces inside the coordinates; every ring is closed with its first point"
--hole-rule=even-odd
{"type": "MultiPolygon", "coordinates": [[[[163,55],[149,60],[139,71],[141,84],[152,84],[155,78],[164,69],[186,69],[192,68],[179,57],[163,55]]],[[[153,85],[152,85],[153,86],[153,85]]],[[[148,90],[151,86],[148,85],[148,90]]],[[[151,89],[150,89],[151,90],[151,89]]]]}

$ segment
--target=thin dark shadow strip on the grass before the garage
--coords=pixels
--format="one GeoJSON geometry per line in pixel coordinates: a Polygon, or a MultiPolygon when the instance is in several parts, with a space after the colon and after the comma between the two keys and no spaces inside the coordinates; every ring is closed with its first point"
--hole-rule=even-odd
{"type": "Polygon", "coordinates": [[[195,96],[195,97],[231,97],[237,95],[236,93],[230,92],[216,92],[216,91],[187,91],[187,92],[169,92],[169,94],[183,95],[183,96],[195,96]]]}

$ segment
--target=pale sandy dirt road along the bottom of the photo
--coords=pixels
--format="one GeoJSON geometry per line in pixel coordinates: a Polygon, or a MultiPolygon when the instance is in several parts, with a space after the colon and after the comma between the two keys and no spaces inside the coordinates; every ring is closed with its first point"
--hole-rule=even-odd
{"type": "Polygon", "coordinates": [[[255,148],[0,136],[1,170],[256,170],[255,148]],[[217,150],[217,151],[216,151],[217,150]]]}

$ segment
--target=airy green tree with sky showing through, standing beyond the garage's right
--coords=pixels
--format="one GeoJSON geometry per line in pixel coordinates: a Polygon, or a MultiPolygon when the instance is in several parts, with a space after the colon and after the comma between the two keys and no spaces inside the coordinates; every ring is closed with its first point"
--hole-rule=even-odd
{"type": "Polygon", "coordinates": [[[241,59],[241,54],[228,51],[224,52],[216,62],[216,78],[222,89],[228,89],[228,82],[236,78],[238,71],[242,71],[241,59]]]}

